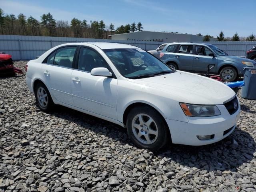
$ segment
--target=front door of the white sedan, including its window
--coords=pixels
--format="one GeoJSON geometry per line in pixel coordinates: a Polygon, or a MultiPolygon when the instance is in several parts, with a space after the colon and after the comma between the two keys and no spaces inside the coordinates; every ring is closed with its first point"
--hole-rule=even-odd
{"type": "Polygon", "coordinates": [[[109,68],[106,61],[95,50],[81,47],[78,69],[71,75],[74,106],[108,118],[117,118],[117,79],[92,76],[96,67],[109,68]]]}

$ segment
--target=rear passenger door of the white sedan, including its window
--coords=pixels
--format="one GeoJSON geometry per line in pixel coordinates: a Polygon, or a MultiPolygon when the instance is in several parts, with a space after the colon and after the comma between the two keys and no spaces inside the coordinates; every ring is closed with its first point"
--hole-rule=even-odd
{"type": "Polygon", "coordinates": [[[59,102],[73,105],[71,74],[76,46],[65,46],[52,52],[42,64],[41,72],[51,95],[59,102]]]}

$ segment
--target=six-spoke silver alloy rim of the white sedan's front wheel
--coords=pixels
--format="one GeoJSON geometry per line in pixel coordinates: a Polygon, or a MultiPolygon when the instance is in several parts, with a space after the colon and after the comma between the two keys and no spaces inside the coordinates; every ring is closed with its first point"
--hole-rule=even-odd
{"type": "Polygon", "coordinates": [[[158,137],[156,122],[149,115],[142,113],[132,119],[132,132],[139,142],[146,145],[154,143],[158,137]]]}

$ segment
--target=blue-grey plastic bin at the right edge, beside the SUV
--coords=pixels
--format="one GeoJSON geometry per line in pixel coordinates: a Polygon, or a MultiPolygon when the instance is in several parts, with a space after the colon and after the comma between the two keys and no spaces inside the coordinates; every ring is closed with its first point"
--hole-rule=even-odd
{"type": "Polygon", "coordinates": [[[256,99],[256,67],[244,67],[242,97],[246,99],[256,99]]]}

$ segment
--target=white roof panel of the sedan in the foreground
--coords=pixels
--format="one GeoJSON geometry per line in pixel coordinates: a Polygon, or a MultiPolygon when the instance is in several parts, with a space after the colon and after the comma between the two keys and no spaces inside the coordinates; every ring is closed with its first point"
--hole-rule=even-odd
{"type": "Polygon", "coordinates": [[[132,45],[127,45],[127,44],[121,44],[121,43],[108,43],[108,42],[80,42],[80,43],[66,43],[66,44],[61,44],[60,46],[65,46],[65,45],[95,45],[100,49],[122,49],[122,48],[130,48],[130,49],[138,49],[136,46],[132,45]]]}

